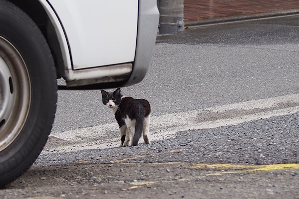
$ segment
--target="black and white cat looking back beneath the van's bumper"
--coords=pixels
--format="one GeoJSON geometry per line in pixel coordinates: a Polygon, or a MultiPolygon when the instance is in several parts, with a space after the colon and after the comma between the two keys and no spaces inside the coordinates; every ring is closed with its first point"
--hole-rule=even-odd
{"type": "Polygon", "coordinates": [[[150,104],[145,99],[134,99],[121,95],[121,89],[114,92],[101,90],[103,104],[111,108],[120,127],[121,146],[136,146],[143,135],[145,144],[149,141],[150,104]]]}

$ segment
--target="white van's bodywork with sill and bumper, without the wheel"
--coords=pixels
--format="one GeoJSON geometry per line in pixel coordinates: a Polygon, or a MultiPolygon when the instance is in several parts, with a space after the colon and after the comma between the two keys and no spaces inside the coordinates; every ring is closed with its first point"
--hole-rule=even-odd
{"type": "Polygon", "coordinates": [[[67,86],[111,83],[104,87],[120,87],[144,78],[157,34],[157,1],[122,1],[113,1],[121,5],[117,6],[103,0],[88,0],[94,4],[79,0],[39,0],[59,42],[63,66],[58,67],[67,86]],[[102,14],[96,8],[99,5],[107,8],[102,14]]]}

